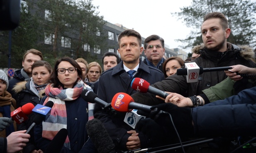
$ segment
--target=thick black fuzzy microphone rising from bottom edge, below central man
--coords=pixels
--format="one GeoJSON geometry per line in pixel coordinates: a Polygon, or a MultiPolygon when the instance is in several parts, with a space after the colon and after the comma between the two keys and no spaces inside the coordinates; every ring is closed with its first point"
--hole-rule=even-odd
{"type": "Polygon", "coordinates": [[[116,153],[113,140],[100,120],[89,120],[86,130],[99,153],[116,153]]]}

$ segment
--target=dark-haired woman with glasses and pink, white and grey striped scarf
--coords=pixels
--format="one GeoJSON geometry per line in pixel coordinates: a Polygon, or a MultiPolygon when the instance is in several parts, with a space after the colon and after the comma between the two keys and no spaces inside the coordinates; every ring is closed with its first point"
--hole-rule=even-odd
{"type": "Polygon", "coordinates": [[[83,89],[92,89],[83,80],[82,69],[75,60],[63,57],[56,61],[49,79],[50,84],[45,88],[46,96],[41,100],[42,105],[48,101],[52,101],[54,105],[50,116],[34,129],[37,146],[42,151],[45,151],[62,128],[67,129],[68,136],[61,153],[96,151],[85,128],[88,120],[93,119],[94,105],[80,96],[83,89]]]}

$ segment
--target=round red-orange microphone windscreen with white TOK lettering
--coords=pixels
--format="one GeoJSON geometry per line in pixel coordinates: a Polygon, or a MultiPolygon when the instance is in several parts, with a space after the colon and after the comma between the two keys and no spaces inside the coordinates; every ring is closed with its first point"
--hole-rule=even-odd
{"type": "Polygon", "coordinates": [[[112,98],[111,106],[119,112],[130,112],[129,103],[134,102],[132,97],[127,93],[116,93],[112,98]]]}

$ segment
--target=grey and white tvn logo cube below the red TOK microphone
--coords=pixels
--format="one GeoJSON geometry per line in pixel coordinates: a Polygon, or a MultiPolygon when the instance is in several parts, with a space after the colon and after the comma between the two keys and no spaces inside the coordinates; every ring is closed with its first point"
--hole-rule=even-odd
{"type": "Polygon", "coordinates": [[[132,110],[131,112],[127,112],[124,117],[124,122],[128,124],[130,127],[135,129],[137,124],[141,118],[145,118],[145,116],[137,114],[137,110],[132,110]]]}

